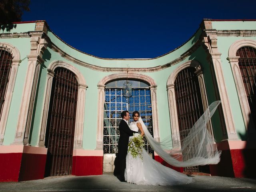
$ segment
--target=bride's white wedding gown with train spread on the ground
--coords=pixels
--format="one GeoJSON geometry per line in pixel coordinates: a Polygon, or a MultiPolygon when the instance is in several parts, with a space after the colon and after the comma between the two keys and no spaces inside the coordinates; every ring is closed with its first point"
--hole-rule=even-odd
{"type": "MultiPolygon", "coordinates": [[[[138,132],[137,122],[131,122],[130,129],[138,132]]],[[[139,156],[133,158],[130,152],[128,152],[126,156],[125,180],[138,185],[162,186],[192,182],[191,177],[168,168],[152,159],[144,148],[142,149],[142,159],[139,156]]]]}

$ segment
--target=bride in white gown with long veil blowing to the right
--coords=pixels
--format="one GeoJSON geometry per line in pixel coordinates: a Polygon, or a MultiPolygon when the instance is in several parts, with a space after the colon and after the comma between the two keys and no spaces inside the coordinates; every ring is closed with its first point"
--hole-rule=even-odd
{"type": "MultiPolygon", "coordinates": [[[[150,132],[148,132],[138,111],[134,111],[132,114],[134,122],[131,122],[130,129],[135,132],[140,130],[141,136],[144,135],[146,137],[154,151],[165,162],[172,166],[189,167],[218,164],[221,151],[218,151],[214,137],[209,135],[206,124],[219,104],[220,101],[212,102],[204,114],[202,114],[194,126],[192,126],[184,139],[180,140],[179,133],[177,133],[176,137],[173,136],[172,140],[180,140],[180,142],[169,152],[163,149],[167,146],[164,142],[154,140],[150,132]],[[182,154],[182,156],[186,158],[180,158],[180,155],[177,154],[182,154]]],[[[138,137],[138,133],[136,134],[130,136],[129,140],[133,140],[136,136],[138,137]]],[[[168,138],[170,137],[167,137],[167,139],[168,138]]],[[[166,141],[170,143],[169,140],[166,141]]],[[[143,147],[140,152],[140,155],[134,155],[128,148],[128,154],[126,155],[126,171],[124,174],[127,182],[139,185],[178,185],[192,182],[192,178],[185,174],[172,170],[153,160],[143,147]]]]}

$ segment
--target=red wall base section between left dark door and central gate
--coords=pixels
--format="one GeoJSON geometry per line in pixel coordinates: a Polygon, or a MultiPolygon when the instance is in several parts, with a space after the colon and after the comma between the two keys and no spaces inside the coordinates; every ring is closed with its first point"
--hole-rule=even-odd
{"type": "Polygon", "coordinates": [[[73,156],[72,175],[102,175],[103,156],[73,156]]]}

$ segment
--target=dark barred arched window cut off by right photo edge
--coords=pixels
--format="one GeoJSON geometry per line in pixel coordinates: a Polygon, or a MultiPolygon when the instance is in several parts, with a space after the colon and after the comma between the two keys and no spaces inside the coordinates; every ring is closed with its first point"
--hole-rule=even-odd
{"type": "Polygon", "coordinates": [[[244,89],[254,124],[256,124],[256,49],[244,46],[237,50],[239,56],[238,65],[240,68],[244,89]]]}

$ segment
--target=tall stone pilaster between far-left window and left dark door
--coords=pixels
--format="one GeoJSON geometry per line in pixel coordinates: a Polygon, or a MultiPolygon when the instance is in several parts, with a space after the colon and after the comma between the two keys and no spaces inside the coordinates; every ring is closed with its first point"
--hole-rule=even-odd
{"type": "Polygon", "coordinates": [[[38,77],[41,70],[41,64],[44,62],[42,55],[47,46],[47,41],[38,36],[31,37],[31,49],[28,55],[28,69],[24,83],[20,114],[13,144],[29,145],[30,128],[32,114],[34,111],[34,100],[36,96],[38,77]]]}

